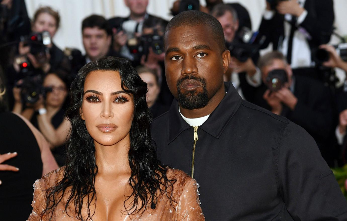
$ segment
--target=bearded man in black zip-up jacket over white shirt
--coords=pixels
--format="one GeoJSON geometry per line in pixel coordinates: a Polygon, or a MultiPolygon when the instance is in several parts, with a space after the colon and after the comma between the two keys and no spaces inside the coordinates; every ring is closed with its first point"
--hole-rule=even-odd
{"type": "Polygon", "coordinates": [[[152,122],[162,163],[198,182],[206,220],[347,220],[347,203],[310,135],[244,101],[217,19],[175,16],[164,35],[174,100],[152,122]]]}

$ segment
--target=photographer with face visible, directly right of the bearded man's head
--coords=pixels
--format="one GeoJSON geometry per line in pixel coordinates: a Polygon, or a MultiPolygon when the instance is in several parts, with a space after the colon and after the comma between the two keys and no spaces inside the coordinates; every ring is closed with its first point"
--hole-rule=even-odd
{"type": "MultiPolygon", "coordinates": [[[[236,34],[239,29],[239,20],[234,8],[229,5],[218,4],[212,9],[211,15],[221,23],[227,45],[242,44],[236,34]]],[[[230,50],[232,58],[229,70],[225,74],[225,81],[231,80],[243,99],[254,103],[254,87],[261,85],[261,73],[254,64],[259,58],[259,52],[256,51],[252,57],[245,58],[245,61],[239,61],[240,58],[236,58],[236,55],[233,54],[235,50],[230,50]]]]}

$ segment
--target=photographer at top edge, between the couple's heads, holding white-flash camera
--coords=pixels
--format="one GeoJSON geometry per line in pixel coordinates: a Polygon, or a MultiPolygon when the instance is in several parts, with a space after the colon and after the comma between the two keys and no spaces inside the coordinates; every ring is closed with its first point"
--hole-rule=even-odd
{"type": "Polygon", "coordinates": [[[108,20],[113,32],[112,49],[120,53],[124,58],[132,61],[134,66],[140,64],[140,59],[132,54],[127,46],[128,39],[142,35],[144,22],[160,19],[165,26],[167,21],[162,18],[147,13],[149,0],[124,0],[125,5],[130,10],[130,15],[126,18],[115,17],[108,20]]]}

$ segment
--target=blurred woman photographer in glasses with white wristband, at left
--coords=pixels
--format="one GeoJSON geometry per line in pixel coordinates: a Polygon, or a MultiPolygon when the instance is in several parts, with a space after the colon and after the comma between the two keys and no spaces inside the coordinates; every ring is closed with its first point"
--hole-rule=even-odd
{"type": "Polygon", "coordinates": [[[41,131],[51,143],[53,155],[59,166],[65,164],[64,143],[70,129],[70,122],[65,117],[63,109],[68,94],[68,85],[66,73],[60,71],[48,73],[43,79],[42,86],[50,92],[46,92],[45,98],[41,95],[35,104],[26,105],[24,110],[22,110],[21,89],[17,87],[13,89],[15,97],[13,112],[25,116],[41,131]]]}

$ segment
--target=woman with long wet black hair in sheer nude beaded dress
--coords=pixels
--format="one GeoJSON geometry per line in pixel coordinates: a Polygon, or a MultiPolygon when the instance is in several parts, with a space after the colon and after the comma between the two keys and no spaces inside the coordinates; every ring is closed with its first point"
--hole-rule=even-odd
{"type": "Polygon", "coordinates": [[[29,221],[205,220],[195,180],[156,157],[146,92],[125,59],[103,57],[79,70],[67,164],[36,180],[29,221]]]}

